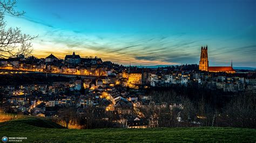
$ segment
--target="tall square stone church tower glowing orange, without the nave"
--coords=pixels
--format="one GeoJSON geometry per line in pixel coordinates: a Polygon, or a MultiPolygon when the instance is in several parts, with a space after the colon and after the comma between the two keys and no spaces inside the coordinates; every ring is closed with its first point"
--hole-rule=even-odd
{"type": "Polygon", "coordinates": [[[201,47],[201,56],[199,61],[199,70],[208,71],[208,54],[207,45],[206,47],[201,47]]]}

